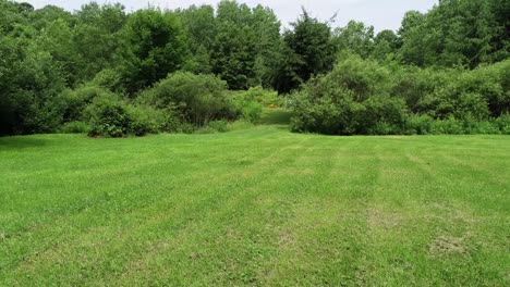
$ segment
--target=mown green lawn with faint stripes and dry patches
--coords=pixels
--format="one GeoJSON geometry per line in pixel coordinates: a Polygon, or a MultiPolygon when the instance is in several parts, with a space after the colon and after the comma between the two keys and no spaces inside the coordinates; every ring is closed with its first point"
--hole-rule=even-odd
{"type": "Polygon", "coordinates": [[[0,138],[0,286],[510,286],[510,137],[0,138]]]}

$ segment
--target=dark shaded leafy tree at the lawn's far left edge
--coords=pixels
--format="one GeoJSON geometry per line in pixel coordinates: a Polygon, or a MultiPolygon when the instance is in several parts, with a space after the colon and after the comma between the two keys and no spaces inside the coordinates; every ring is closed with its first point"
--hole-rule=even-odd
{"type": "Polygon", "coordinates": [[[54,132],[54,109],[64,80],[51,55],[36,42],[0,38],[0,135],[54,132]]]}

